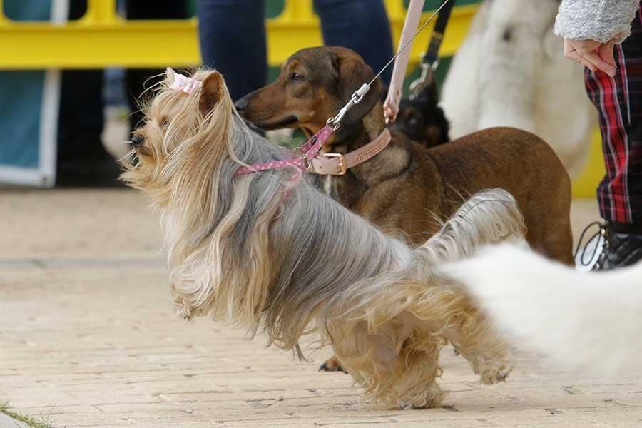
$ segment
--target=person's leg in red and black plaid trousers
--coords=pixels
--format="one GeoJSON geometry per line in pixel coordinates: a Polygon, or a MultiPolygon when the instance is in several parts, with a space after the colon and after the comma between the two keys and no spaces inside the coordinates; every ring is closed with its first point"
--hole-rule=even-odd
{"type": "Polygon", "coordinates": [[[614,78],[586,70],[588,95],[598,109],[606,176],[597,190],[608,228],[602,267],[642,258],[642,2],[631,36],[616,46],[614,78]],[[617,246],[617,248],[613,248],[617,246]]]}

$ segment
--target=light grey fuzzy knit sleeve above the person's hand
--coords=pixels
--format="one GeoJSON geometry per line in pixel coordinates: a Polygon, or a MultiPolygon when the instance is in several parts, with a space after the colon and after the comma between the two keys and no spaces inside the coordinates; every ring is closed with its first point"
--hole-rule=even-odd
{"type": "Polygon", "coordinates": [[[562,0],[554,33],[564,39],[596,40],[616,38],[618,43],[631,34],[640,0],[562,0]]]}

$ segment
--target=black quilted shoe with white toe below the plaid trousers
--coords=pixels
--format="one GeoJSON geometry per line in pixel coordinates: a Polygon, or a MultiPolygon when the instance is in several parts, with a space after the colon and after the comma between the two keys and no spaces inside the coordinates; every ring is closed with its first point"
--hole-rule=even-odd
{"type": "Polygon", "coordinates": [[[607,221],[593,222],[586,226],[580,236],[575,260],[581,270],[611,270],[634,265],[642,260],[642,234],[626,233],[619,225],[607,221]],[[584,235],[593,226],[598,227],[596,233],[579,253],[584,235]],[[588,255],[590,258],[587,258],[588,255]]]}

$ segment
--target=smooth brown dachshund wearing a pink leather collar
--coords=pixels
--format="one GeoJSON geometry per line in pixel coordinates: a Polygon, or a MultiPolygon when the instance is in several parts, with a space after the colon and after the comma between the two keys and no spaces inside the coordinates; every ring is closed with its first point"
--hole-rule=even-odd
{"type": "MultiPolygon", "coordinates": [[[[277,81],[241,98],[236,106],[265,129],[302,128],[307,135],[335,116],[374,73],[350,49],[302,49],[282,66],[277,81]]],[[[385,127],[381,84],[350,110],[325,149],[347,153],[385,127]]],[[[571,182],[550,146],[531,133],[493,128],[434,148],[392,133],[387,148],[345,175],[330,176],[330,195],[387,233],[402,231],[424,242],[462,203],[462,195],[488,188],[512,193],[524,213],[526,240],[535,250],[573,264],[569,212],[571,182]]]]}

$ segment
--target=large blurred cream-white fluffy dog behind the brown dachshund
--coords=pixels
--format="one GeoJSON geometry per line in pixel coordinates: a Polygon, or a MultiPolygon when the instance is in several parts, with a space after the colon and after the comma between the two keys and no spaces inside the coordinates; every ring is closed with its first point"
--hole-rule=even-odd
{"type": "Polygon", "coordinates": [[[596,124],[583,67],[553,34],[558,0],[486,0],[442,91],[451,138],[513,126],[548,141],[571,178],[584,168],[596,124]]]}

